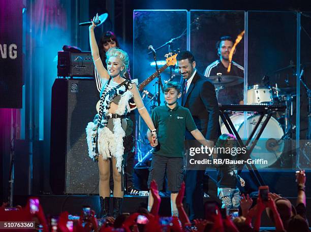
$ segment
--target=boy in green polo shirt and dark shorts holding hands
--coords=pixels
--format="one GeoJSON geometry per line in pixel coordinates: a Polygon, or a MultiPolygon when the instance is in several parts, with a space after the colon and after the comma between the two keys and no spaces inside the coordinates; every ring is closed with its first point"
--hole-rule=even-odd
{"type": "MultiPolygon", "coordinates": [[[[197,129],[189,109],[178,106],[177,99],[181,97],[181,86],[177,82],[168,82],[164,87],[166,105],[154,108],[151,119],[157,129],[157,140],[147,131],[147,137],[154,151],[149,169],[148,188],[151,180],[162,190],[165,173],[167,173],[168,190],[171,191],[172,216],[178,216],[176,197],[183,180],[183,146],[185,130],[205,146],[210,143],[197,129]]],[[[149,192],[148,210],[151,210],[153,198],[149,192]]]]}

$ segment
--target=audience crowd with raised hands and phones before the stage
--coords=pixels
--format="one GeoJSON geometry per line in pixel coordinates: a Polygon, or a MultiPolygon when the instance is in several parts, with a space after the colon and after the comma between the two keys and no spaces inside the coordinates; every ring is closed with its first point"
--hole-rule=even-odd
{"type": "MultiPolygon", "coordinates": [[[[247,194],[242,194],[239,215],[228,215],[228,210],[221,209],[215,202],[205,203],[205,218],[190,221],[183,208],[182,200],[185,185],[176,198],[178,217],[161,217],[159,209],[161,197],[157,183],[150,184],[154,202],[150,212],[140,208],[137,212],[123,213],[117,218],[107,217],[97,219],[95,211],[81,211],[81,215],[72,216],[63,212],[59,217],[46,218],[39,199],[30,197],[25,207],[9,208],[3,204],[0,208],[0,221],[35,221],[36,231],[61,231],[61,232],[85,232],[85,231],[124,231],[124,232],[158,232],[158,231],[198,231],[198,232],[248,232],[260,230],[261,215],[266,211],[268,217],[274,223],[273,231],[304,232],[309,231],[306,218],[305,196],[305,172],[296,172],[297,202],[293,206],[291,202],[275,193],[268,193],[267,199],[258,194],[253,202],[247,194]],[[256,202],[256,204],[255,204],[256,202]]],[[[1,231],[15,231],[14,229],[0,229],[1,231]]],[[[16,229],[16,231],[34,231],[34,229],[16,229]]]]}

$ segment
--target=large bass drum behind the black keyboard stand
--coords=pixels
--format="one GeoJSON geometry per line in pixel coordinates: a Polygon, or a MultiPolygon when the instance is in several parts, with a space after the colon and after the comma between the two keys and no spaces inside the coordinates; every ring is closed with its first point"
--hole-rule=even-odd
{"type": "MultiPolygon", "coordinates": [[[[244,115],[241,114],[234,114],[230,116],[230,119],[235,127],[235,129],[238,131],[239,136],[243,140],[244,144],[247,140],[248,136],[250,136],[252,130],[254,129],[255,125],[257,124],[259,120],[259,115],[247,115],[246,116],[246,123],[244,122],[244,115]],[[244,131],[246,131],[246,137],[244,136],[244,131]]],[[[261,125],[263,124],[263,121],[267,117],[264,116],[263,120],[261,121],[261,125]]],[[[258,131],[261,126],[257,129],[255,132],[255,136],[258,134],[258,131]]],[[[228,134],[228,130],[223,123],[221,125],[222,134],[228,134]]],[[[284,142],[283,140],[278,142],[279,139],[281,139],[284,136],[284,131],[282,129],[281,124],[278,123],[278,121],[275,118],[270,118],[268,121],[267,126],[265,127],[264,131],[262,132],[259,141],[257,142],[255,148],[253,149],[251,153],[251,158],[253,160],[255,159],[264,159],[267,160],[267,164],[265,163],[254,163],[256,168],[262,169],[267,168],[273,163],[275,163],[278,158],[282,155],[284,151],[284,142]]]]}

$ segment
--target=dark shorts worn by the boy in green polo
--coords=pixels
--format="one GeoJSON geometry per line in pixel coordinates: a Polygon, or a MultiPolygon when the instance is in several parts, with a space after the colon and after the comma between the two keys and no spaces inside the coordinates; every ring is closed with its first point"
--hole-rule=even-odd
{"type": "Polygon", "coordinates": [[[165,174],[167,174],[168,190],[178,193],[183,181],[183,158],[170,158],[162,155],[152,155],[149,168],[148,188],[151,180],[158,184],[158,190],[162,190],[165,174]]]}

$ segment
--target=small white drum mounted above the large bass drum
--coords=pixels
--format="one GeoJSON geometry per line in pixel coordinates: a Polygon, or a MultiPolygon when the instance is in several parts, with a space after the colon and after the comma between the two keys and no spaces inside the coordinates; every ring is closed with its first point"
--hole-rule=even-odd
{"type": "Polygon", "coordinates": [[[272,105],[273,88],[260,85],[252,85],[247,88],[247,105],[270,104],[272,105]]]}

